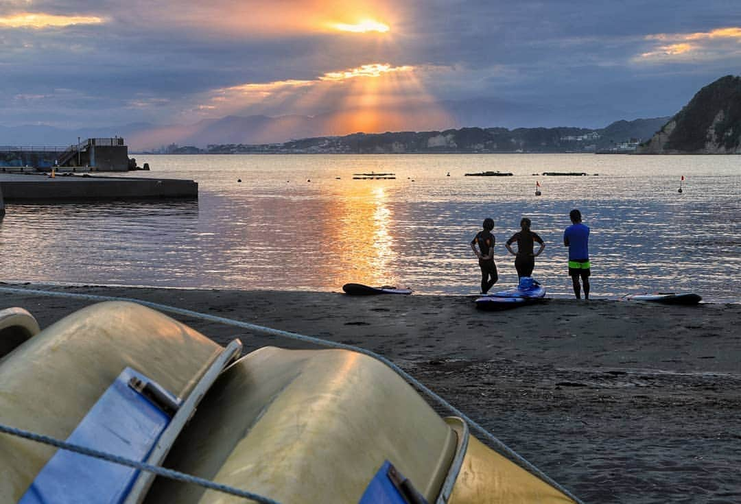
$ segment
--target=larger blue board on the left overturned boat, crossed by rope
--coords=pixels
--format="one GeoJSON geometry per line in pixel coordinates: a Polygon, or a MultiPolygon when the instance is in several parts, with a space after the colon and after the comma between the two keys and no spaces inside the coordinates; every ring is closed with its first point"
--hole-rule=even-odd
{"type": "MultiPolygon", "coordinates": [[[[142,462],[170,417],[128,386],[148,378],[126,368],[76,427],[68,443],[142,462]]],[[[122,503],[139,470],[59,449],[41,469],[19,503],[122,503]]]]}

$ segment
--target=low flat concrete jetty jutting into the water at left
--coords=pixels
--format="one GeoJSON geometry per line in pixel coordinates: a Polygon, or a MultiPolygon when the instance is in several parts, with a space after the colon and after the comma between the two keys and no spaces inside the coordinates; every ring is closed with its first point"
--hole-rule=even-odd
{"type": "Polygon", "coordinates": [[[197,199],[198,184],[174,178],[0,173],[0,193],[5,201],[197,199]]]}

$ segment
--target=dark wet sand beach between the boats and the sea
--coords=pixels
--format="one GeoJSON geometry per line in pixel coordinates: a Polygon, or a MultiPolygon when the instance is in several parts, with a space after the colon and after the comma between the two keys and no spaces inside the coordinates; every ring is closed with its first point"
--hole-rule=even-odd
{"type": "MultiPolygon", "coordinates": [[[[738,304],[562,299],[480,312],[463,296],[47,289],[137,298],[362,346],[393,360],[585,503],[741,502],[738,304]]],[[[0,292],[0,307],[24,307],[42,328],[90,303],[0,292]]],[[[310,348],[170,316],[219,343],[239,337],[245,352],[310,348]]]]}

